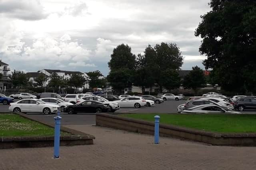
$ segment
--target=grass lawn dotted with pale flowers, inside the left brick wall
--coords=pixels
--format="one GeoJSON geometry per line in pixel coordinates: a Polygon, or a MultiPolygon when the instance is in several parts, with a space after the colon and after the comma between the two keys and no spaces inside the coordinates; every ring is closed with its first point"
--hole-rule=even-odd
{"type": "MultiPolygon", "coordinates": [[[[0,137],[53,136],[54,128],[16,114],[0,114],[0,137]]],[[[69,133],[61,132],[61,135],[69,133]]]]}

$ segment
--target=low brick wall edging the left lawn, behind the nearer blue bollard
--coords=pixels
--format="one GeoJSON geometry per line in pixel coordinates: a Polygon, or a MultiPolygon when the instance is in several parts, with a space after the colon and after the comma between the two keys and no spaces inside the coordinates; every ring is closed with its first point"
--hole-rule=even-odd
{"type": "MultiPolygon", "coordinates": [[[[46,123],[37,119],[32,119],[24,113],[16,113],[22,117],[42,123],[46,126],[54,128],[54,123],[46,123]]],[[[89,135],[67,127],[60,127],[61,131],[68,132],[70,135],[60,136],[60,146],[74,146],[74,145],[92,145],[93,135],[89,135]]],[[[24,148],[24,147],[53,147],[54,136],[40,136],[40,137],[0,137],[0,149],[9,148],[24,148]]]]}

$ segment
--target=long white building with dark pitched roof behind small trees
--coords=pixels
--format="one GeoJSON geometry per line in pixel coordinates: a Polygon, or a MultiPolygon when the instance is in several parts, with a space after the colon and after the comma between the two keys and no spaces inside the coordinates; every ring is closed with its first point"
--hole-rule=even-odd
{"type": "MultiPolygon", "coordinates": [[[[43,69],[39,70],[38,73],[43,73],[46,76],[50,77],[52,73],[56,73],[58,76],[64,78],[64,79],[70,79],[72,74],[82,74],[84,78],[88,79],[88,75],[85,72],[80,72],[80,71],[66,71],[66,70],[50,70],[50,69],[43,69]]],[[[48,82],[46,82],[46,86],[50,82],[50,78],[48,78],[48,82]]],[[[84,88],[88,89],[89,84],[86,82],[84,84],[84,88]]]]}

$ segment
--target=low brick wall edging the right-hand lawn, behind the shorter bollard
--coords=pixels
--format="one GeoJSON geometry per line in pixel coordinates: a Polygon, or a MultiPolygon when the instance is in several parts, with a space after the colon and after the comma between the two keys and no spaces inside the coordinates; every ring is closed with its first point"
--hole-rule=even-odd
{"type": "MultiPolygon", "coordinates": [[[[106,113],[96,114],[96,125],[154,135],[153,122],[119,117],[106,113]]],[[[189,139],[212,145],[256,146],[256,133],[214,133],[161,124],[159,126],[159,133],[162,137],[189,139]]]]}

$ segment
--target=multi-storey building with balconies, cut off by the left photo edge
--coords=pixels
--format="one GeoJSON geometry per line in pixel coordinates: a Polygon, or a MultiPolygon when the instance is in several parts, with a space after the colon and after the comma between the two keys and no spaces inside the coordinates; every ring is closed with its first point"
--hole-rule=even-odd
{"type": "Polygon", "coordinates": [[[5,91],[12,86],[12,80],[10,78],[10,67],[9,64],[6,64],[0,60],[0,73],[2,78],[0,80],[0,90],[5,91]]]}

